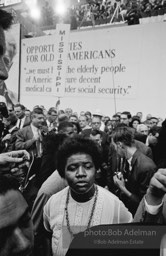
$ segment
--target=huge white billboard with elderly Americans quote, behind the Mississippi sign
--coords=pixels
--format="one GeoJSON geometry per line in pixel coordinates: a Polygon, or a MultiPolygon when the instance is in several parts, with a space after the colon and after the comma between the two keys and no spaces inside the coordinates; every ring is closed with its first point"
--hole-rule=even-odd
{"type": "MultiPolygon", "coordinates": [[[[60,108],[100,109],[107,115],[142,111],[165,117],[165,29],[166,23],[158,22],[71,31],[60,108]]],[[[55,35],[22,40],[21,101],[29,108],[41,102],[54,106],[52,95],[58,100],[53,91],[56,40],[55,35]],[[47,57],[41,60],[43,54],[47,57]]]]}

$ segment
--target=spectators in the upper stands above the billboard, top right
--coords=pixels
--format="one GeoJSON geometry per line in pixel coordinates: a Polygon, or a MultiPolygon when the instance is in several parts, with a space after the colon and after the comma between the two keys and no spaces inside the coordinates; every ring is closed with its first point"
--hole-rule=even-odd
{"type": "MultiPolygon", "coordinates": [[[[128,25],[139,24],[139,19],[143,17],[151,17],[163,15],[166,11],[165,1],[89,1],[89,13],[92,14],[97,24],[126,21],[128,25]]],[[[77,21],[81,21],[87,12],[87,6],[80,6],[76,9],[77,21]]],[[[92,19],[91,15],[87,15],[87,20],[92,19]]]]}

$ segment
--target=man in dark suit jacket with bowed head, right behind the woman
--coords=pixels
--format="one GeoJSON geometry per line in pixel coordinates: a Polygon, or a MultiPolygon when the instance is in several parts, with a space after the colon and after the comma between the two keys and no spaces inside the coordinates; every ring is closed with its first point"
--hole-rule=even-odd
{"type": "Polygon", "coordinates": [[[122,173],[114,175],[114,183],[118,187],[120,199],[134,215],[156,171],[156,165],[137,150],[131,128],[116,128],[113,140],[127,160],[122,173]]]}

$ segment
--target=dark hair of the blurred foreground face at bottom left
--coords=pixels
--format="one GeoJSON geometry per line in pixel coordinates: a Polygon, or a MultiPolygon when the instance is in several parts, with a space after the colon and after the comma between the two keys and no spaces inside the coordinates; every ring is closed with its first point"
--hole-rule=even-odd
{"type": "Polygon", "coordinates": [[[0,174],[0,195],[6,194],[9,190],[19,190],[18,181],[12,176],[0,174]]]}

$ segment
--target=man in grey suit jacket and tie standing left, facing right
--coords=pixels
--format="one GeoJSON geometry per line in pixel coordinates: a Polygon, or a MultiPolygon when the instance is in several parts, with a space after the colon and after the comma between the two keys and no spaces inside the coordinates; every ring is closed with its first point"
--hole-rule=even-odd
{"type": "Polygon", "coordinates": [[[29,126],[20,129],[17,132],[16,149],[26,149],[33,160],[30,176],[34,176],[26,189],[25,198],[31,208],[39,189],[39,174],[42,161],[42,126],[44,123],[44,114],[41,108],[35,108],[32,112],[32,122],[29,126]]]}

